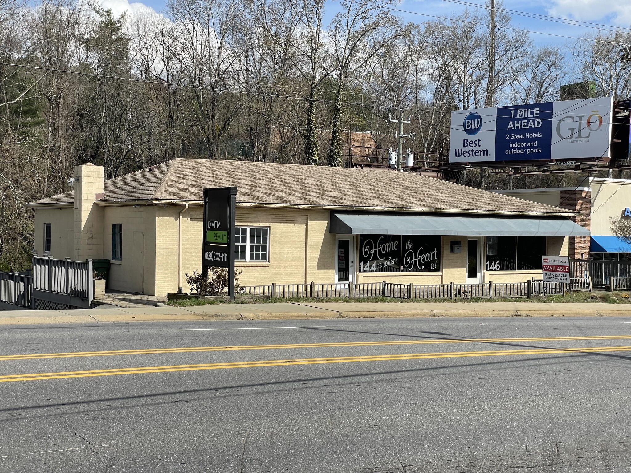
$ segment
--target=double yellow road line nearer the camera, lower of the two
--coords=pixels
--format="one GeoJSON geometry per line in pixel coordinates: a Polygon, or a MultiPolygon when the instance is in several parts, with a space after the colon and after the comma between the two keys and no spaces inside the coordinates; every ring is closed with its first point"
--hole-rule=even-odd
{"type": "Polygon", "coordinates": [[[138,375],[144,373],[168,373],[170,371],[221,370],[227,368],[262,368],[264,366],[318,365],[324,363],[350,363],[356,361],[391,361],[401,359],[468,358],[471,356],[517,356],[535,354],[576,354],[631,351],[631,346],[585,348],[536,348],[494,351],[461,351],[450,353],[410,353],[374,356],[340,356],[334,358],[274,359],[268,361],[240,361],[233,363],[204,363],[201,365],[147,366],[139,368],[114,368],[110,370],[61,371],[57,373],[33,373],[27,375],[0,376],[0,382],[34,381],[61,378],[86,378],[95,376],[138,375]]]}

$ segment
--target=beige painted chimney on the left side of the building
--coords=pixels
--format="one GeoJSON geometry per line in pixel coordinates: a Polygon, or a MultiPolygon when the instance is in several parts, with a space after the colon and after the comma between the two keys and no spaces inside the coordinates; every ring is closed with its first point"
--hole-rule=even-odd
{"type": "Polygon", "coordinates": [[[103,257],[103,166],[74,168],[74,260],[103,257]]]}

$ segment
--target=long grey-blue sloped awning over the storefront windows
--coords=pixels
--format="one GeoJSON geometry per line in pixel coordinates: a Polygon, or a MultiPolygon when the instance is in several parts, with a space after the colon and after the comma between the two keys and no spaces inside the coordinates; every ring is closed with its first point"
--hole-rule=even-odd
{"type": "Polygon", "coordinates": [[[331,214],[331,233],[459,235],[463,237],[579,237],[589,230],[567,219],[428,215],[331,214]]]}

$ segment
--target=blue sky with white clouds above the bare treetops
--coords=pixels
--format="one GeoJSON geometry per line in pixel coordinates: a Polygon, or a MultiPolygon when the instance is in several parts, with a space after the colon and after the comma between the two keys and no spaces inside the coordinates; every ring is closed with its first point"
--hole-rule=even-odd
{"type": "MultiPolygon", "coordinates": [[[[483,0],[466,1],[478,5],[484,4],[483,0]]],[[[130,3],[129,0],[100,0],[100,2],[106,8],[112,8],[115,13],[120,13],[123,9],[133,10],[143,8],[143,6],[160,12],[165,8],[166,0],[144,0],[143,3],[130,3]]],[[[329,0],[328,3],[327,11],[330,16],[333,16],[337,9],[337,2],[329,0]]],[[[466,7],[446,0],[403,0],[396,8],[426,15],[451,17],[461,13],[466,7]]],[[[469,8],[476,9],[475,7],[469,8]]],[[[557,16],[569,20],[588,21],[625,28],[631,27],[631,0],[505,0],[504,8],[539,15],[557,16]]],[[[480,11],[486,10],[481,9],[480,11]]],[[[415,23],[422,23],[431,19],[430,17],[415,15],[414,13],[400,13],[396,11],[393,13],[401,16],[404,21],[413,21],[415,23]]],[[[568,37],[581,37],[585,33],[596,31],[587,26],[563,24],[528,18],[517,14],[513,15],[513,23],[525,30],[568,37]]],[[[536,34],[531,34],[531,39],[537,45],[563,45],[574,41],[569,38],[536,34]]]]}

